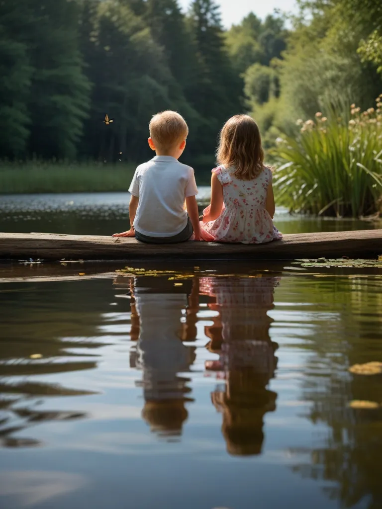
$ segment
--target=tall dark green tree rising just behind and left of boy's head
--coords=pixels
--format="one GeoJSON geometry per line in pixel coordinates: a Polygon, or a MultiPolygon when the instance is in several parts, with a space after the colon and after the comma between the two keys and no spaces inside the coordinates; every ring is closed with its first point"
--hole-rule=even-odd
{"type": "Polygon", "coordinates": [[[151,116],[161,109],[178,109],[181,91],[163,48],[128,2],[107,0],[95,10],[88,2],[83,25],[89,23],[89,15],[91,27],[81,34],[87,74],[94,83],[86,144],[96,158],[147,157],[151,116]],[[113,124],[103,124],[105,114],[113,124]]]}

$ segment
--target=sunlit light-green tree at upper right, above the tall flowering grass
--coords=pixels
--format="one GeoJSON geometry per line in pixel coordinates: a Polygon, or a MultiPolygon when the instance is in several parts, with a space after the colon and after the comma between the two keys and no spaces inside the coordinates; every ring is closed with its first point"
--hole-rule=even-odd
{"type": "Polygon", "coordinates": [[[375,66],[363,63],[357,52],[374,25],[361,12],[354,15],[352,2],[356,0],[300,2],[302,15],[308,14],[311,21],[295,20],[281,73],[283,94],[297,115],[314,115],[323,103],[339,99],[367,108],[380,93],[382,81],[375,66]]]}

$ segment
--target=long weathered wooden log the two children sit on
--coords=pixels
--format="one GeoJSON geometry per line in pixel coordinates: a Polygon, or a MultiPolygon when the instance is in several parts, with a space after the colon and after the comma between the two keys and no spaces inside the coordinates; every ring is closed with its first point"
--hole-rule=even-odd
{"type": "Polygon", "coordinates": [[[0,259],[10,260],[294,260],[372,259],[382,254],[382,230],[285,235],[267,244],[183,242],[144,244],[135,239],[46,233],[0,233],[0,259]]]}

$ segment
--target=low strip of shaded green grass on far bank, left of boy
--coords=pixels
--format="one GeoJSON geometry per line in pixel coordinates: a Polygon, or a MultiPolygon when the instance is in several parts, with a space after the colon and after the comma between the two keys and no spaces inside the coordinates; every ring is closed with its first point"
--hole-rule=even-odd
{"type": "Polygon", "coordinates": [[[0,193],[127,191],[130,163],[0,162],[0,193]]]}

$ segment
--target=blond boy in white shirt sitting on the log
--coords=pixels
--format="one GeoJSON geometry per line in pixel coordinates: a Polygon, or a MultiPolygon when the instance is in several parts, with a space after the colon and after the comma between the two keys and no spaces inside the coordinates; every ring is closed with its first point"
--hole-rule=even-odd
{"type": "Polygon", "coordinates": [[[178,161],[187,135],[187,124],[175,111],[151,119],[148,141],[156,156],[135,170],[129,188],[131,227],[113,237],[169,244],[189,240],[194,233],[201,240],[194,170],[178,161]]]}

